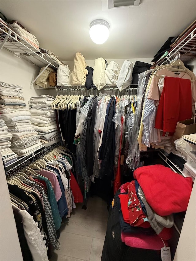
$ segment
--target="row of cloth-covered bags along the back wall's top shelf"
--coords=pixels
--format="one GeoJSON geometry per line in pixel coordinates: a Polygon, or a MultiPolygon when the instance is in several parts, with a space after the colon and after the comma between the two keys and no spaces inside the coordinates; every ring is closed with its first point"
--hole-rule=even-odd
{"type": "Polygon", "coordinates": [[[125,60],[120,68],[117,62],[107,61],[103,58],[95,59],[94,69],[86,66],[85,58],[81,53],[76,53],[74,69],[71,71],[68,65],[60,65],[55,71],[52,68],[40,70],[36,84],[41,88],[61,86],[70,88],[85,86],[86,89],[97,88],[99,91],[105,86],[117,86],[119,91],[138,84],[138,74],[150,69],[151,64],[125,60]],[[44,72],[43,72],[44,70],[44,72]]]}

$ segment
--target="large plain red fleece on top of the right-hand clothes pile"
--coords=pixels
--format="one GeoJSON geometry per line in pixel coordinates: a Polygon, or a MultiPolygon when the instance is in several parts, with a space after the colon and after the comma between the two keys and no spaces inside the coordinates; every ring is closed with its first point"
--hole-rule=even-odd
{"type": "Polygon", "coordinates": [[[192,178],[183,177],[161,164],[134,170],[146,201],[160,216],[187,210],[192,178]]]}

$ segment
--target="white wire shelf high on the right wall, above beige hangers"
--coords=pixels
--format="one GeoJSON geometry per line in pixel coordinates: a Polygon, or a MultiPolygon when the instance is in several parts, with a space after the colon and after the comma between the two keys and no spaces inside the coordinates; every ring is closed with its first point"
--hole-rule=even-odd
{"type": "Polygon", "coordinates": [[[173,58],[177,53],[180,56],[180,60],[184,63],[187,63],[196,57],[196,28],[173,47],[164,58],[155,64],[162,65],[170,63],[170,58],[173,58]]]}

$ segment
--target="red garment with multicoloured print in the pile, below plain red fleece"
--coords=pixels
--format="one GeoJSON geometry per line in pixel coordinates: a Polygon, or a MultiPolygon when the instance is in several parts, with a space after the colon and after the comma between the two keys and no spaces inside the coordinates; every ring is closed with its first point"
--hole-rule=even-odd
{"type": "Polygon", "coordinates": [[[128,187],[128,210],[131,226],[140,226],[149,228],[150,223],[146,215],[141,209],[141,203],[138,199],[136,190],[135,190],[135,181],[131,181],[128,187]]]}

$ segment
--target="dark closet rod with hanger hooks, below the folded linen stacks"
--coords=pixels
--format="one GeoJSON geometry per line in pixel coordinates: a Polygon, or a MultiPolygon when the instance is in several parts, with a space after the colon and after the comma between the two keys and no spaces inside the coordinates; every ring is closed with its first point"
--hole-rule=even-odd
{"type": "Polygon", "coordinates": [[[47,152],[50,152],[54,148],[56,148],[58,145],[60,145],[60,142],[57,142],[53,145],[50,145],[47,148],[44,148],[43,150],[37,152],[35,155],[30,156],[28,159],[24,160],[23,162],[19,163],[18,165],[14,166],[10,170],[6,171],[6,177],[11,177],[14,174],[16,174],[19,170],[25,168],[27,165],[31,164],[32,162],[35,162],[37,159],[42,158],[47,152]]]}

